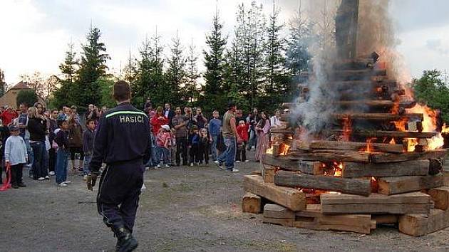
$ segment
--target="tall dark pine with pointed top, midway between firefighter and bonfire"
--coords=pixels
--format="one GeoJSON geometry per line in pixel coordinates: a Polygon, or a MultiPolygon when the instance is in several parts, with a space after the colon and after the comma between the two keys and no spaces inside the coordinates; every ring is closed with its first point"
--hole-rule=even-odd
{"type": "Polygon", "coordinates": [[[203,87],[205,100],[213,99],[215,95],[222,93],[224,49],[227,43],[227,36],[222,34],[222,30],[223,24],[220,22],[218,11],[216,11],[212,22],[212,31],[206,36],[207,50],[203,51],[207,68],[203,87]]]}

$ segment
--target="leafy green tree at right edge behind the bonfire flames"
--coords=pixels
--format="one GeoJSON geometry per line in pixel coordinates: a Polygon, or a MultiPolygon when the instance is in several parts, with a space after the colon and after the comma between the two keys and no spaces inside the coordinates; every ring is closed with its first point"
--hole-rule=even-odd
{"type": "Polygon", "coordinates": [[[419,103],[441,110],[443,120],[449,122],[449,88],[440,71],[425,70],[421,78],[413,80],[412,88],[419,103]]]}

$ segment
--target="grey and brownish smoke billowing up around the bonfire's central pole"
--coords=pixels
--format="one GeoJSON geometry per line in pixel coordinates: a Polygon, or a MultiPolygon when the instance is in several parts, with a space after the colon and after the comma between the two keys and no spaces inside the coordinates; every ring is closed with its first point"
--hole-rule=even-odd
{"type": "MultiPolygon", "coordinates": [[[[400,43],[395,36],[393,21],[388,12],[388,0],[360,0],[358,9],[357,58],[368,58],[371,53],[378,53],[379,61],[386,63],[388,78],[404,84],[410,81],[410,75],[405,70],[403,58],[396,53],[396,46],[400,43]]],[[[309,88],[309,99],[299,103],[291,111],[294,118],[306,132],[302,139],[313,140],[316,135],[326,132],[336,125],[332,114],[341,112],[336,102],[341,99],[341,91],[332,85],[333,65],[343,59],[338,58],[335,47],[335,18],[336,10],[341,0],[309,0],[302,1],[306,16],[315,23],[316,40],[309,45],[309,53],[313,56],[314,74],[309,76],[306,85],[309,88]]],[[[366,77],[362,80],[370,80],[366,77]]],[[[405,85],[404,85],[405,86],[405,85]]],[[[370,93],[371,86],[353,86],[350,91],[354,96],[363,99],[363,95],[370,93]]],[[[366,98],[368,99],[368,98],[366,98]]],[[[345,108],[351,111],[351,107],[345,108]]],[[[357,112],[366,111],[367,107],[353,107],[357,112]]]]}

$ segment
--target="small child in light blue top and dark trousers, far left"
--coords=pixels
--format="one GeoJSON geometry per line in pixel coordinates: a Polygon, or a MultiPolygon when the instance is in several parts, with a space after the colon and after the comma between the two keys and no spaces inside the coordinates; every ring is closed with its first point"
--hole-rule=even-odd
{"type": "Polygon", "coordinates": [[[9,132],[11,137],[8,137],[5,144],[5,162],[6,166],[11,166],[11,186],[14,189],[26,187],[22,181],[22,170],[28,162],[25,141],[19,136],[19,127],[16,125],[11,125],[9,132]]]}

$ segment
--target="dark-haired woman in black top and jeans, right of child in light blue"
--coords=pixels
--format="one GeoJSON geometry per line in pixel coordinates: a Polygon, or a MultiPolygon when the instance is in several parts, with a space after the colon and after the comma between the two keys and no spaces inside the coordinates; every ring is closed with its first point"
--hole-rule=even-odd
{"type": "MultiPolygon", "coordinates": [[[[38,105],[36,107],[39,107],[38,105]]],[[[34,180],[44,180],[50,179],[48,177],[48,170],[45,167],[45,140],[47,134],[47,122],[45,118],[38,115],[36,107],[30,107],[28,109],[28,130],[30,132],[30,145],[33,149],[33,179],[34,180]]],[[[42,110],[42,107],[38,108],[42,110]]]]}

